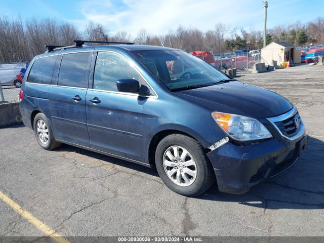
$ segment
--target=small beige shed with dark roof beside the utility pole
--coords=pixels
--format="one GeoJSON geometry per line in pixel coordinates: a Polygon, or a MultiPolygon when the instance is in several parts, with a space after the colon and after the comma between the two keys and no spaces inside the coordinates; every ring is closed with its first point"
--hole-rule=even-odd
{"type": "Polygon", "coordinates": [[[271,65],[272,60],[277,61],[278,65],[288,61],[300,63],[301,50],[288,42],[272,42],[261,49],[261,60],[266,65],[271,65]]]}

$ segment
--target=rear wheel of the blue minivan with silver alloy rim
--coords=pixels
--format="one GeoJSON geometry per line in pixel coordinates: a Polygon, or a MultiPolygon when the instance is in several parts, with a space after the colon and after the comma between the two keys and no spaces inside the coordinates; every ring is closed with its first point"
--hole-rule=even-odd
{"type": "Polygon", "coordinates": [[[61,143],[55,141],[49,120],[43,113],[35,115],[33,128],[36,140],[42,148],[52,150],[61,146],[61,143]]]}

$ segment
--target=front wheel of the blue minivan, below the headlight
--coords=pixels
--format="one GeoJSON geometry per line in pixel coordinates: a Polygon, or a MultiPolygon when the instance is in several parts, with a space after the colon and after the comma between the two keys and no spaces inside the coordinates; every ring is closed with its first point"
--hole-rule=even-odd
{"type": "Polygon", "coordinates": [[[161,180],[184,196],[200,195],[216,180],[204,147],[194,138],[182,134],[171,134],[158,143],[155,165],[161,180]]]}

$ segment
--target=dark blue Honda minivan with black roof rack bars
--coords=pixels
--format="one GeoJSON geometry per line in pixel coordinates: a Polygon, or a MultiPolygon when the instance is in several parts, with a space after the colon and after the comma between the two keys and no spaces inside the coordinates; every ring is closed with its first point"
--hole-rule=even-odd
{"type": "Polygon", "coordinates": [[[152,167],[196,196],[215,182],[245,193],[307,147],[287,99],[187,52],[76,43],[34,57],[22,83],[22,119],[44,149],[65,143],[152,167]]]}

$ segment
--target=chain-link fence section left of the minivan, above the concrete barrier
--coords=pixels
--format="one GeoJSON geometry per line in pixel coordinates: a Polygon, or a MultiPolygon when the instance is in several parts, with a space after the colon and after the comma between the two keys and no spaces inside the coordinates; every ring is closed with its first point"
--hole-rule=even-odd
{"type": "Polygon", "coordinates": [[[0,63],[0,102],[18,101],[28,62],[0,63]]]}

